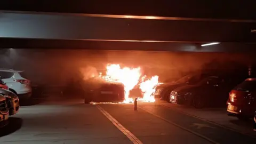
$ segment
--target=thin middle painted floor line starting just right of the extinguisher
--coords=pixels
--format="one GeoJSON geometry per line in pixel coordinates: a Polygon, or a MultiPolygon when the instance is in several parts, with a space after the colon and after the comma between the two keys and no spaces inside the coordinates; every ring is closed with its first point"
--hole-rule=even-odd
{"type": "Polygon", "coordinates": [[[159,116],[159,115],[157,115],[157,114],[152,113],[151,111],[146,110],[145,108],[142,108],[142,107],[141,107],[141,109],[144,110],[144,111],[147,111],[147,112],[148,112],[149,114],[151,114],[151,115],[154,115],[154,116],[156,116],[156,117],[162,119],[163,121],[165,121],[165,122],[167,122],[167,123],[170,123],[170,124],[172,124],[172,125],[174,125],[174,126],[179,127],[179,128],[182,129],[182,130],[185,130],[185,131],[188,131],[188,132],[190,132],[190,133],[193,133],[193,134],[197,135],[198,137],[201,137],[201,138],[203,138],[203,139],[205,139],[205,140],[207,140],[207,141],[209,141],[209,142],[211,142],[211,143],[219,144],[218,142],[216,142],[216,141],[214,141],[214,140],[212,140],[212,139],[210,139],[210,138],[207,138],[207,137],[205,137],[205,136],[202,135],[202,134],[199,134],[199,133],[197,133],[197,132],[191,131],[191,130],[187,129],[186,127],[183,127],[183,126],[181,126],[181,125],[178,125],[178,124],[176,124],[176,123],[173,123],[173,122],[169,121],[168,119],[165,119],[165,118],[163,118],[163,117],[161,117],[161,116],[159,116]]]}

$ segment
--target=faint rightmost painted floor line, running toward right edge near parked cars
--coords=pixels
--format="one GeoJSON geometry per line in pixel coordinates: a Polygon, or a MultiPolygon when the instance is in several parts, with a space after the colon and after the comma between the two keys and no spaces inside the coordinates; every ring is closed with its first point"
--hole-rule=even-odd
{"type": "Polygon", "coordinates": [[[164,107],[164,108],[167,108],[167,109],[171,109],[171,110],[173,110],[173,111],[177,111],[178,113],[181,113],[181,114],[185,114],[185,115],[188,115],[188,116],[191,116],[191,117],[195,117],[195,118],[200,119],[200,120],[202,120],[202,121],[204,121],[204,122],[208,122],[208,123],[211,123],[211,124],[220,126],[220,127],[224,128],[224,129],[228,129],[228,130],[231,130],[231,131],[234,131],[234,132],[238,132],[238,133],[247,135],[247,136],[252,137],[252,138],[256,138],[255,135],[252,135],[252,134],[250,134],[250,133],[246,133],[246,132],[242,132],[242,131],[239,131],[239,130],[236,130],[236,129],[232,129],[231,127],[228,127],[228,126],[225,126],[225,125],[221,125],[221,124],[218,124],[218,123],[209,121],[209,120],[207,120],[207,119],[198,117],[198,116],[196,116],[196,115],[192,115],[192,114],[186,113],[186,112],[181,111],[181,110],[177,110],[177,109],[174,109],[174,108],[170,108],[170,107],[167,107],[167,106],[165,106],[165,105],[160,105],[160,106],[162,106],[162,107],[164,107]]]}

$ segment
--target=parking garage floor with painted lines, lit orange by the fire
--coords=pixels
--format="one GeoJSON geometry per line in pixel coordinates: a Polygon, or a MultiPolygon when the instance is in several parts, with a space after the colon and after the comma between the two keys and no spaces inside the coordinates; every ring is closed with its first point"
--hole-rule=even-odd
{"type": "Polygon", "coordinates": [[[252,126],[225,112],[166,102],[138,103],[137,111],[132,104],[43,102],[11,116],[0,143],[255,143],[252,126]]]}

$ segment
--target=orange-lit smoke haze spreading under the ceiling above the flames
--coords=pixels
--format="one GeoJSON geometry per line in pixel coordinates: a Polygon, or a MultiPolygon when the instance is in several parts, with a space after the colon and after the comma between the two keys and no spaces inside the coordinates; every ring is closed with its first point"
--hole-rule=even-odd
{"type": "Polygon", "coordinates": [[[13,50],[17,52],[15,57],[9,53],[1,55],[0,67],[25,70],[27,78],[33,83],[47,85],[68,85],[74,78],[79,80],[97,76],[98,72],[105,72],[108,63],[118,63],[121,67],[140,67],[142,75],[158,75],[159,82],[165,82],[202,70],[208,63],[235,61],[246,67],[255,61],[251,55],[243,53],[13,50]]]}

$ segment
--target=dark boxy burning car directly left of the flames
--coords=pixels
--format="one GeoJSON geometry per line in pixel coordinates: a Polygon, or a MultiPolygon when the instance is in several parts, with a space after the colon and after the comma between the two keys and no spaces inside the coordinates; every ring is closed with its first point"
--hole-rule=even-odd
{"type": "Polygon", "coordinates": [[[101,78],[90,78],[82,83],[84,102],[123,102],[124,85],[107,82],[101,78]]]}

